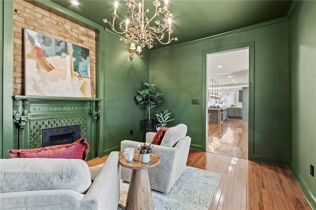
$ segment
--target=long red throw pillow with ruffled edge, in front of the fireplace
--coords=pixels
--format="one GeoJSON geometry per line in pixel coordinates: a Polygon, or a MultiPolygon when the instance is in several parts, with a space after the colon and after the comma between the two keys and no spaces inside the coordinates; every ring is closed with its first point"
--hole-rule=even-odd
{"type": "Polygon", "coordinates": [[[65,158],[85,160],[89,152],[89,144],[84,138],[73,143],[45,146],[35,149],[10,149],[12,158],[65,158]]]}

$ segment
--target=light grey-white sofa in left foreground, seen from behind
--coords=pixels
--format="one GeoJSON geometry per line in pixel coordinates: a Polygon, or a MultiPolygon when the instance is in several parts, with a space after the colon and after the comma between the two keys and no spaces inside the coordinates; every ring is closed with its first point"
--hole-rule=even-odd
{"type": "Polygon", "coordinates": [[[80,159],[0,159],[0,209],[117,210],[118,158],[111,152],[92,184],[80,159]]]}

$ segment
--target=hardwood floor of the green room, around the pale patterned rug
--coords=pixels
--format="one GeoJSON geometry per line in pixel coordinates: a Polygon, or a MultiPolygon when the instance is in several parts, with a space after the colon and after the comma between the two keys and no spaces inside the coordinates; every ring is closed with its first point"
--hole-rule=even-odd
{"type": "Polygon", "coordinates": [[[193,149],[187,165],[222,175],[209,210],[312,210],[287,167],[193,149]]]}

